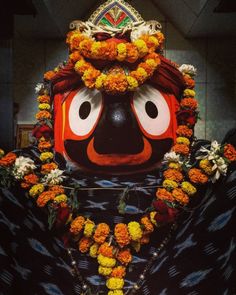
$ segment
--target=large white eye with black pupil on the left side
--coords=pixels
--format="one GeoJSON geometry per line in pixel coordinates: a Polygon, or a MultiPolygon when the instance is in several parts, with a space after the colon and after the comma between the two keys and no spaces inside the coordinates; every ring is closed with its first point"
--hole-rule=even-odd
{"type": "Polygon", "coordinates": [[[74,134],[86,136],[98,121],[102,110],[102,95],[88,88],[80,89],[73,97],[69,109],[69,124],[74,134]]]}

